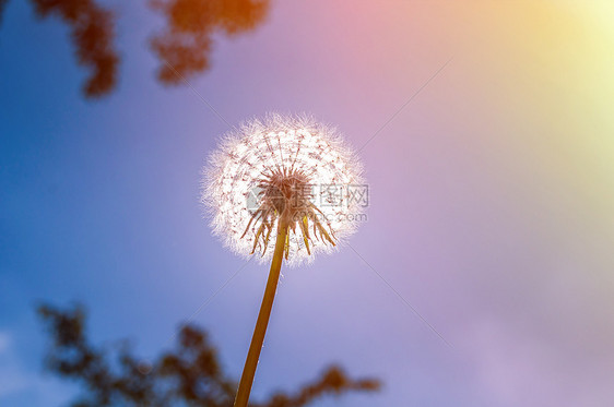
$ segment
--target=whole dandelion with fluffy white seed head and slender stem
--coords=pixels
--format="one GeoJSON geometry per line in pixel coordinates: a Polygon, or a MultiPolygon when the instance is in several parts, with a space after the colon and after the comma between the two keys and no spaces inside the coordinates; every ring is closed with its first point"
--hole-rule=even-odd
{"type": "Polygon", "coordinates": [[[202,201],[214,235],[240,255],[271,261],[235,406],[249,399],[282,262],[311,261],[350,236],[358,210],[350,189],[362,183],[362,166],[341,135],[305,116],[247,121],[211,156],[202,201]]]}

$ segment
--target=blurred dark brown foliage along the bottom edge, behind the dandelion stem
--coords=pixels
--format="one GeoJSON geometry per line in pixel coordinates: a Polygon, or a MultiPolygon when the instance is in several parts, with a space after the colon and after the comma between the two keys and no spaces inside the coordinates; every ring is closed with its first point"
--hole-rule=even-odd
{"type": "MultiPolygon", "coordinates": [[[[46,368],[82,384],[83,395],[72,407],[233,405],[236,382],[223,372],[206,333],[196,326],[182,326],[175,349],[147,364],[132,355],[127,343],[114,348],[92,345],[82,307],[44,304],[38,314],[51,339],[46,368]]],[[[379,387],[377,380],[351,379],[333,366],[297,392],[279,392],[265,402],[250,403],[250,407],[303,407],[329,394],[375,392],[379,387]]]]}

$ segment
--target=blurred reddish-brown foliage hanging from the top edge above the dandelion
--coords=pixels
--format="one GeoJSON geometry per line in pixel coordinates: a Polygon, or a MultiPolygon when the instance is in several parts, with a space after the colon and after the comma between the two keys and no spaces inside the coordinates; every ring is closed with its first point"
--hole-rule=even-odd
{"type": "MultiPolygon", "coordinates": [[[[31,0],[39,17],[58,16],[71,31],[78,63],[90,71],[83,85],[87,98],[117,87],[120,58],[115,44],[117,15],[98,0],[31,0]]],[[[264,21],[269,0],[147,0],[161,12],[166,27],[152,36],[150,47],[160,60],[157,79],[177,85],[204,72],[215,34],[233,36],[264,21]]],[[[0,22],[8,0],[0,0],[0,22]]]]}

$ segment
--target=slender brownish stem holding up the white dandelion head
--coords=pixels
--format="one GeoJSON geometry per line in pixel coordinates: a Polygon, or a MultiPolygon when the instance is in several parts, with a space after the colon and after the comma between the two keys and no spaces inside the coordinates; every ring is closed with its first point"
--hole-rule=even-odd
{"type": "Polygon", "coordinates": [[[262,298],[262,304],[260,306],[260,313],[258,314],[256,327],[253,328],[251,345],[249,345],[249,351],[247,352],[247,359],[245,361],[245,367],[243,368],[241,380],[235,398],[235,407],[247,407],[247,403],[249,400],[249,393],[251,392],[256,367],[258,366],[260,350],[262,349],[264,335],[267,334],[267,325],[269,325],[269,318],[271,316],[271,309],[273,308],[273,300],[275,299],[280,271],[282,268],[286,234],[287,225],[285,222],[280,220],[280,225],[278,227],[278,240],[275,241],[275,251],[273,253],[273,261],[271,262],[271,271],[269,272],[264,297],[262,298]]]}

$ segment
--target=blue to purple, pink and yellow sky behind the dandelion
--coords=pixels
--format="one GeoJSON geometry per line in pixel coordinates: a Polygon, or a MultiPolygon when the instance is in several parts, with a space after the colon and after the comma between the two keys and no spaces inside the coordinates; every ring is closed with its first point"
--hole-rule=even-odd
{"type": "Polygon", "coordinates": [[[13,0],[0,25],[0,405],[78,392],[44,372],[42,301],[145,360],[204,303],[239,376],[268,270],[211,236],[200,173],[267,111],[335,124],[370,206],[355,251],[282,271],[256,397],[336,362],[383,390],[317,407],[614,398],[610,1],[272,1],[193,89],[156,83],[145,1],[103,3],[122,64],[97,101],[61,23],[13,0]]]}

